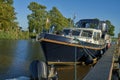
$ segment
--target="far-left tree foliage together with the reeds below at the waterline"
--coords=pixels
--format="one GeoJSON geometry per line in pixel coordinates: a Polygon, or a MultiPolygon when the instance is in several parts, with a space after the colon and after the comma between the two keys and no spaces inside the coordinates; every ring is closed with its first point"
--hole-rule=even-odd
{"type": "Polygon", "coordinates": [[[0,0],[0,39],[18,39],[20,31],[13,0],[0,0]]]}

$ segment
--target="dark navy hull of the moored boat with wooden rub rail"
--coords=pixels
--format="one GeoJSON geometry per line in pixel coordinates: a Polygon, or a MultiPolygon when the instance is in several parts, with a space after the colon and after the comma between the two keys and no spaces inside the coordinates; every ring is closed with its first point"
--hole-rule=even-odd
{"type": "Polygon", "coordinates": [[[104,47],[95,48],[83,46],[80,44],[72,44],[69,42],[70,39],[68,38],[63,38],[62,41],[58,39],[59,38],[57,38],[57,40],[50,39],[49,36],[49,38],[44,37],[40,40],[40,44],[48,63],[71,63],[82,61],[86,63],[91,63],[94,58],[101,56],[101,50],[104,49],[104,47]]]}

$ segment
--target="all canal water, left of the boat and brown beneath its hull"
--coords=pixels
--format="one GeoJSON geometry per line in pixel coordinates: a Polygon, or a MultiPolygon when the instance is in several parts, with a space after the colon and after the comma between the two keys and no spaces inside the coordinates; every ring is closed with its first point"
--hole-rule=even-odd
{"type": "MultiPolygon", "coordinates": [[[[30,64],[45,61],[39,42],[35,40],[0,40],[0,80],[26,77],[30,79],[30,64]]],[[[59,80],[82,80],[90,65],[56,66],[59,80]]]]}

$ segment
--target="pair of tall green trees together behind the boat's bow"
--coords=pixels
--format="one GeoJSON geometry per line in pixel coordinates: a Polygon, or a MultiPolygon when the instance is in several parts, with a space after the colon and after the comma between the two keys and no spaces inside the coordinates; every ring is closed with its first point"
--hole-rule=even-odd
{"type": "Polygon", "coordinates": [[[56,7],[53,7],[50,11],[46,11],[46,6],[31,2],[28,8],[32,11],[27,17],[30,32],[34,30],[36,33],[42,30],[48,31],[50,26],[53,25],[55,26],[55,30],[61,30],[63,27],[69,26],[69,20],[56,7]]]}

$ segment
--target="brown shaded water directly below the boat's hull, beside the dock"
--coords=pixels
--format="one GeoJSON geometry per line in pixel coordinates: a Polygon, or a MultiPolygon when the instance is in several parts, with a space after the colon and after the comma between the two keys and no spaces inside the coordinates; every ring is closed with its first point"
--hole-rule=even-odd
{"type": "Polygon", "coordinates": [[[91,65],[77,65],[76,76],[75,66],[56,66],[58,71],[59,80],[82,80],[88,71],[91,69],[91,65]]]}

